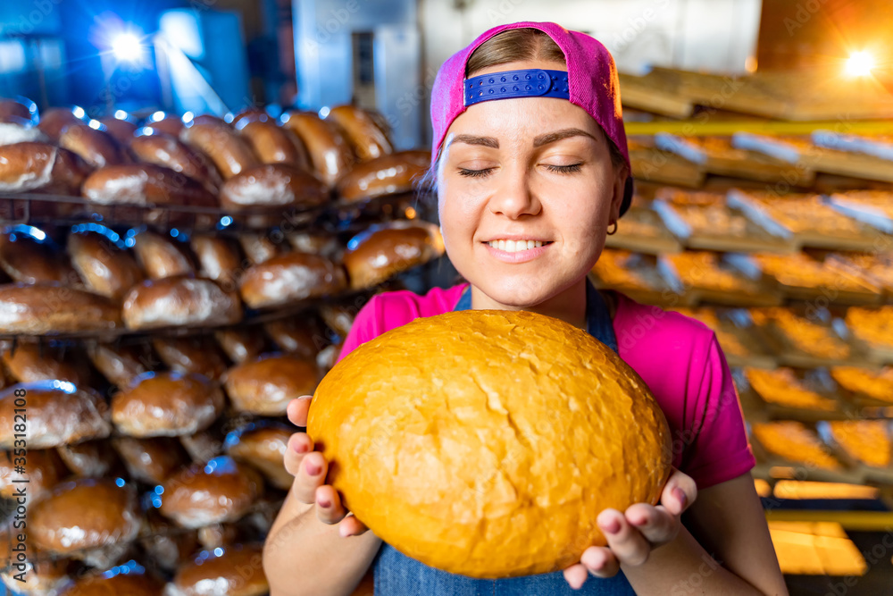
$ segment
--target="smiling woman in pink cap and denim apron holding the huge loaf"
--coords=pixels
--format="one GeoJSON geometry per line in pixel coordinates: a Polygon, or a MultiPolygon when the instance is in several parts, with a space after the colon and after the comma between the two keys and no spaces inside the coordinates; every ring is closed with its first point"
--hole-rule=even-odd
{"type": "MultiPolygon", "coordinates": [[[[617,75],[605,47],[555,23],[490,29],[441,67],[431,119],[441,230],[469,283],[372,298],[341,357],[417,316],[453,309],[555,316],[617,350],[648,383],[671,425],[679,469],[657,507],[602,512],[608,546],[589,547],[580,563],[474,580],[424,566],[367,532],[325,483],[321,453],[297,432],[286,456],[295,483],[264,553],[273,596],[349,594],[370,570],[376,593],[387,596],[787,593],[714,334],[588,284],[631,196],[617,75]]],[[[290,420],[305,425],[308,409],[309,399],[296,399],[290,420]]]]}

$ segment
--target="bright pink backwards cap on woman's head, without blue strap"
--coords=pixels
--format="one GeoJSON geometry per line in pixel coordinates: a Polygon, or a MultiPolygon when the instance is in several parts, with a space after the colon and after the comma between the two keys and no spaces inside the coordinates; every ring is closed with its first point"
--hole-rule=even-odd
{"type": "MultiPolygon", "coordinates": [[[[456,116],[463,113],[467,107],[465,68],[469,56],[489,38],[493,38],[503,31],[525,28],[538,29],[546,33],[561,48],[567,62],[566,95],[568,100],[573,105],[579,105],[586,110],[602,127],[602,130],[605,130],[605,135],[620,150],[631,172],[630,152],[626,146],[626,131],[623,129],[620,84],[613,57],[597,39],[589,37],[585,33],[569,31],[554,22],[531,21],[515,22],[488,29],[480,34],[470,46],[456,52],[440,66],[438,76],[434,80],[434,87],[431,89],[431,125],[434,128],[431,145],[432,167],[437,163],[440,147],[447,137],[447,129],[456,116]]],[[[534,92],[524,95],[527,97],[531,95],[548,96],[547,90],[542,93],[534,92]]],[[[518,96],[507,94],[498,97],[497,94],[497,97],[493,97],[493,99],[507,97],[518,96]]],[[[486,100],[475,99],[474,101],[486,100]]],[[[632,177],[630,176],[626,183],[621,214],[629,208],[631,200],[632,177]]]]}

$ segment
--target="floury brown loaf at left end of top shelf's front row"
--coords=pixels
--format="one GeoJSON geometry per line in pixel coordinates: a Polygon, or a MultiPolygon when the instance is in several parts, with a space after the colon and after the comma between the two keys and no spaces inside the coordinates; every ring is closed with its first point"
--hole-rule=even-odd
{"type": "Polygon", "coordinates": [[[88,173],[68,149],[37,141],[0,146],[0,192],[77,195],[88,173]]]}

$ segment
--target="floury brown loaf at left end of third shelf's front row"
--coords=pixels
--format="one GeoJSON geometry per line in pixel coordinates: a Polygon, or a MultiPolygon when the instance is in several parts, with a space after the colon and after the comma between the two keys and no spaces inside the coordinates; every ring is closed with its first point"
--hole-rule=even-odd
{"type": "MultiPolygon", "coordinates": [[[[112,432],[109,409],[101,395],[88,387],[70,382],[21,383],[0,391],[0,449],[15,444],[16,390],[25,390],[28,423],[25,439],[28,449],[48,449],[67,443],[104,439],[112,432]]],[[[21,400],[20,400],[21,403],[21,400]]]]}

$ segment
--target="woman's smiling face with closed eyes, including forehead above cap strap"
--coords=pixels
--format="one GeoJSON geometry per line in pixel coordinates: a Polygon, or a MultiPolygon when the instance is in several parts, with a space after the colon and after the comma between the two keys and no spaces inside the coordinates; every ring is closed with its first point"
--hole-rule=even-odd
{"type": "MultiPolygon", "coordinates": [[[[525,61],[474,74],[526,68],[566,70],[525,61]]],[[[580,281],[622,202],[626,172],[614,168],[608,143],[565,99],[500,99],[460,114],[438,168],[440,224],[456,270],[505,306],[538,305],[580,281]]]]}

